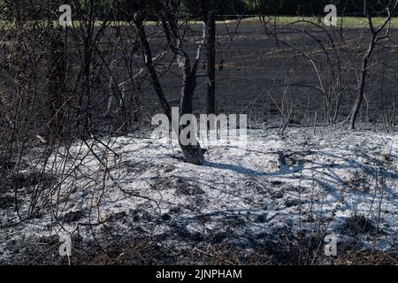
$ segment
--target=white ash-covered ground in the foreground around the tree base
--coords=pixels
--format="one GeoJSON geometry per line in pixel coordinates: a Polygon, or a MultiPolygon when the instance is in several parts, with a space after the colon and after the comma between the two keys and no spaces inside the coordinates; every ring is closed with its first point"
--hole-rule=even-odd
{"type": "MultiPolygon", "coordinates": [[[[341,126],[250,130],[247,149],[208,145],[197,166],[142,137],[76,142],[50,156],[45,172],[64,174],[34,218],[19,223],[4,188],[0,263],[68,264],[60,234],[72,237],[72,264],[396,263],[397,144],[341,126]]],[[[40,162],[33,153],[27,174],[40,162]]],[[[21,182],[19,213],[32,191],[21,182]]]]}

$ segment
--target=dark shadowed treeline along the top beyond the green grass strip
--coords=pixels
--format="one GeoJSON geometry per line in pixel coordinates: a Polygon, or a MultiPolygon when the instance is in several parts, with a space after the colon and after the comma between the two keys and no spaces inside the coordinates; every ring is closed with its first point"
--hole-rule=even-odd
{"type": "MultiPolygon", "coordinates": [[[[131,4],[141,0],[131,1],[131,4]]],[[[46,11],[56,11],[57,6],[68,4],[68,0],[0,0],[0,5],[7,11],[9,19],[45,19],[46,11]],[[52,6],[52,7],[49,7],[52,6]],[[50,8],[50,9],[43,9],[50,8]],[[52,8],[52,9],[51,9],[52,8]],[[15,13],[19,11],[19,14],[15,13]]],[[[86,0],[80,3],[73,1],[73,11],[84,10],[86,0]]],[[[156,4],[156,1],[153,1],[156,4]]],[[[384,14],[384,8],[389,0],[369,0],[371,11],[376,14],[384,14]]],[[[181,11],[191,18],[201,18],[203,9],[215,11],[218,16],[233,15],[284,15],[284,16],[320,16],[325,14],[326,4],[335,4],[341,16],[364,16],[364,2],[362,0],[181,0],[181,11]],[[205,7],[203,7],[205,6],[205,7]]],[[[99,19],[113,17],[117,19],[131,19],[128,15],[130,9],[126,7],[126,1],[99,0],[95,4],[96,16],[99,19]],[[112,13],[109,14],[111,6],[112,13]]],[[[80,14],[79,12],[77,13],[80,14]]]]}

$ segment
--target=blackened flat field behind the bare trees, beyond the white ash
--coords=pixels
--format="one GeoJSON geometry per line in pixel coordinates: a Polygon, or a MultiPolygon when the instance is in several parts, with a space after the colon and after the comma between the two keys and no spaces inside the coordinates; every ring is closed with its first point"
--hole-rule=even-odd
{"type": "MultiPolygon", "coordinates": [[[[183,39],[182,46],[192,60],[200,42],[201,28],[201,25],[189,25],[183,39]]],[[[100,31],[99,28],[95,30],[100,31]]],[[[157,70],[165,97],[171,106],[178,107],[182,83],[178,64],[170,51],[165,52],[166,42],[159,34],[159,27],[150,25],[148,30],[152,36],[149,44],[153,56],[161,55],[157,59],[157,70]]],[[[35,37],[37,33],[31,31],[25,36],[35,37]]],[[[94,58],[97,62],[93,65],[93,73],[97,74],[91,79],[89,95],[80,82],[84,46],[73,33],[65,39],[70,42],[65,70],[70,84],[64,98],[69,107],[66,117],[80,115],[80,111],[87,111],[88,103],[92,103],[90,119],[96,125],[97,134],[114,132],[120,126],[125,133],[142,126],[148,128],[150,118],[163,110],[151,87],[149,74],[142,72],[142,55],[134,40],[136,34],[127,27],[106,27],[99,34],[98,54],[94,52],[93,55],[98,57],[94,58]]],[[[11,38],[12,32],[4,32],[2,36],[11,38]]],[[[313,126],[315,119],[321,125],[347,122],[356,100],[360,66],[370,36],[369,30],[364,28],[326,31],[325,27],[302,23],[263,27],[260,24],[219,22],[216,53],[218,113],[248,114],[250,126],[255,127],[281,126],[287,120],[289,126],[313,126]]],[[[359,122],[377,125],[389,132],[394,130],[391,125],[394,124],[398,96],[397,39],[398,30],[391,29],[388,38],[379,42],[373,52],[364,88],[365,99],[358,116],[359,122]]],[[[10,56],[7,56],[14,43],[12,40],[4,42],[4,61],[0,70],[4,110],[7,105],[19,102],[13,100],[12,94],[18,89],[11,78],[10,56]]],[[[32,47],[29,44],[31,42],[27,40],[25,48],[32,47]]],[[[38,60],[34,74],[29,71],[37,80],[27,87],[21,102],[37,115],[31,121],[35,134],[45,134],[47,130],[43,123],[49,120],[46,50],[48,48],[43,43],[32,47],[32,52],[42,59],[38,60]],[[35,97],[33,103],[31,97],[35,97]]],[[[15,56],[19,56],[18,52],[15,56]]],[[[29,66],[25,65],[19,70],[22,80],[28,78],[27,68],[29,66]]],[[[208,85],[205,70],[203,61],[193,97],[193,109],[197,114],[205,112],[208,85]]]]}

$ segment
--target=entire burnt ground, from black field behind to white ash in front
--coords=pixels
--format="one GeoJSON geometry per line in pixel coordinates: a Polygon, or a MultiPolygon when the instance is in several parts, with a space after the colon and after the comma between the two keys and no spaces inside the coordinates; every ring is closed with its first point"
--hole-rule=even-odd
{"type": "MultiPolygon", "coordinates": [[[[0,264],[397,263],[398,29],[372,52],[351,130],[369,29],[218,22],[217,111],[248,114],[249,142],[202,143],[194,164],[149,138],[166,110],[154,73],[179,106],[187,62],[145,28],[149,65],[126,22],[1,31],[0,264]]],[[[202,26],[179,28],[193,68],[202,26]]]]}

